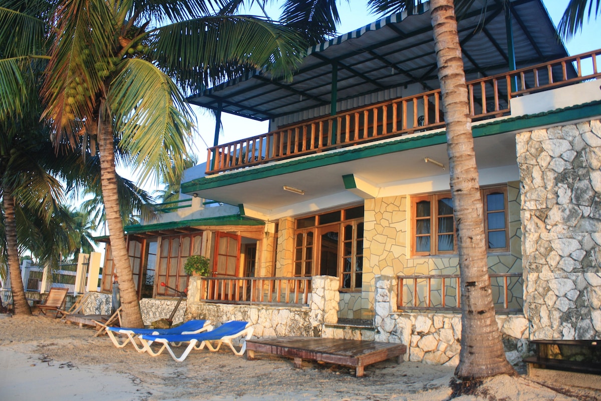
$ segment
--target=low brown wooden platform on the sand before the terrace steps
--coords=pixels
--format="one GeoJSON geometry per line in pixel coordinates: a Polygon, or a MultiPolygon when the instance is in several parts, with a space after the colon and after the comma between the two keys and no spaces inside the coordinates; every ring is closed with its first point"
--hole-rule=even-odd
{"type": "Polygon", "coordinates": [[[389,358],[398,358],[398,363],[401,363],[407,347],[403,344],[319,337],[246,340],[248,359],[254,358],[255,351],[294,358],[296,368],[301,367],[304,359],[355,367],[356,376],[360,378],[367,365],[389,358]]]}

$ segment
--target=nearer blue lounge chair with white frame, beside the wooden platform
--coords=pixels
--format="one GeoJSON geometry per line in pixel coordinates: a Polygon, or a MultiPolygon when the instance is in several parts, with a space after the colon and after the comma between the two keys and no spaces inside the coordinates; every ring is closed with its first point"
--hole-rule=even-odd
{"type": "Polygon", "coordinates": [[[153,357],[160,355],[163,350],[167,350],[171,358],[175,361],[182,362],[188,357],[188,354],[192,349],[203,349],[204,346],[211,351],[218,351],[221,344],[227,344],[233,350],[234,354],[240,356],[244,354],[246,350],[246,340],[251,338],[253,327],[250,326],[249,322],[240,322],[239,320],[230,320],[225,322],[218,328],[212,329],[206,332],[200,332],[198,334],[180,334],[180,335],[153,335],[153,334],[142,334],[139,336],[139,340],[144,344],[144,350],[153,357]],[[250,327],[249,327],[250,326],[250,327]],[[242,339],[242,346],[239,350],[236,350],[234,344],[231,342],[234,338],[242,337],[246,335],[246,338],[242,339]],[[163,344],[159,350],[153,350],[150,345],[152,343],[163,344]],[[175,356],[170,344],[175,343],[188,343],[188,346],[180,355],[175,356]]]}

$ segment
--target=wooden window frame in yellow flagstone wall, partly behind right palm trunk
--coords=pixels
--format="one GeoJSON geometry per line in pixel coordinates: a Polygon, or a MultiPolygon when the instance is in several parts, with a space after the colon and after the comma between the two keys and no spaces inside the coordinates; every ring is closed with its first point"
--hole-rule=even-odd
{"type": "MultiPolygon", "coordinates": [[[[489,236],[489,228],[488,228],[488,219],[486,218],[488,211],[488,204],[486,201],[486,195],[489,194],[503,194],[504,197],[504,213],[505,213],[505,248],[489,248],[488,243],[486,244],[486,252],[487,253],[504,253],[510,250],[509,244],[509,207],[508,207],[508,198],[507,198],[507,185],[492,185],[480,188],[480,196],[483,201],[483,215],[484,215],[484,235],[486,239],[489,236]]],[[[438,200],[442,198],[451,197],[451,192],[433,192],[432,194],[421,194],[410,196],[410,256],[411,257],[421,257],[421,256],[446,256],[446,255],[456,255],[457,254],[457,228],[456,225],[453,224],[453,251],[439,251],[438,250],[438,200]],[[421,201],[427,200],[430,202],[430,251],[426,252],[416,252],[416,225],[417,225],[417,204],[421,201]]],[[[497,210],[491,211],[498,212],[497,210]]],[[[490,230],[490,231],[502,231],[502,229],[490,230]]]]}

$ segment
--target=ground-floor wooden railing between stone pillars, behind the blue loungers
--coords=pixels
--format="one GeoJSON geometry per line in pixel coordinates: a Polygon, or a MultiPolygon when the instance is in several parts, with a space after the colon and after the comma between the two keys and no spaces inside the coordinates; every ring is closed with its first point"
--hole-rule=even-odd
{"type": "Polygon", "coordinates": [[[308,305],[311,277],[203,277],[201,301],[308,305]]]}

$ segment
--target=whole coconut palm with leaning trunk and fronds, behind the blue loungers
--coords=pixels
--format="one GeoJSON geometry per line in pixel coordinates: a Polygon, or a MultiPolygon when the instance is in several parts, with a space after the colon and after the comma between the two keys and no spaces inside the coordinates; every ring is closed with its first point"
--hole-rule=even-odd
{"type": "Polygon", "coordinates": [[[182,171],[191,132],[183,94],[251,68],[290,75],[298,37],[265,19],[215,14],[212,2],[62,0],[53,26],[44,117],[56,144],[99,156],[106,222],[123,324],[142,326],[127,256],[115,173],[115,143],[141,180],[182,171]],[[165,25],[162,25],[165,24],[165,25]]]}

